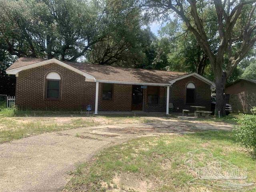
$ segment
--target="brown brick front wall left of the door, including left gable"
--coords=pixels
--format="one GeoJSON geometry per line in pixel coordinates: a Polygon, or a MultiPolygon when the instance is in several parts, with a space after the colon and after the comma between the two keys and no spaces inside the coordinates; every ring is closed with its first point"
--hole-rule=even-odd
{"type": "MultiPolygon", "coordinates": [[[[16,79],[16,105],[22,110],[95,110],[96,82],[58,64],[24,70],[16,79]],[[60,98],[46,99],[46,76],[56,72],[61,77],[60,98]]],[[[132,85],[114,84],[113,99],[102,100],[102,83],[99,83],[98,111],[131,111],[132,85]]]]}

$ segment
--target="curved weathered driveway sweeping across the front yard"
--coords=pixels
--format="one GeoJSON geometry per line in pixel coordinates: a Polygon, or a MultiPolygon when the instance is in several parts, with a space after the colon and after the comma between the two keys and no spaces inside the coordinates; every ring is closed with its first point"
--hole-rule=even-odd
{"type": "Polygon", "coordinates": [[[155,118],[149,123],[76,128],[3,143],[0,192],[60,191],[77,163],[86,162],[102,148],[131,138],[231,128],[228,124],[205,124],[187,118],[155,118]]]}

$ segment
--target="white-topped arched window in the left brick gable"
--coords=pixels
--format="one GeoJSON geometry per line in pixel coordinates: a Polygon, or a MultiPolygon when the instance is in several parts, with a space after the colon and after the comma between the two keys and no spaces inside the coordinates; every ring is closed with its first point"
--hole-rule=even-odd
{"type": "Polygon", "coordinates": [[[58,73],[51,72],[46,76],[46,98],[60,98],[60,75],[58,73]]]}

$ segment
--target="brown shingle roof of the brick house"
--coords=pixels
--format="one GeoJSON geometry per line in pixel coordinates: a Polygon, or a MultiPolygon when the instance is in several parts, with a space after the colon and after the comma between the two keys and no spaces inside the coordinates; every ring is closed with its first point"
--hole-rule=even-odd
{"type": "MultiPolygon", "coordinates": [[[[19,58],[7,70],[28,66],[45,61],[37,58],[19,58]]],[[[65,62],[64,63],[94,76],[96,80],[119,81],[119,82],[144,82],[168,84],[170,80],[187,75],[184,72],[171,72],[161,70],[145,70],[139,68],[124,68],[107,65],[65,62]]]]}

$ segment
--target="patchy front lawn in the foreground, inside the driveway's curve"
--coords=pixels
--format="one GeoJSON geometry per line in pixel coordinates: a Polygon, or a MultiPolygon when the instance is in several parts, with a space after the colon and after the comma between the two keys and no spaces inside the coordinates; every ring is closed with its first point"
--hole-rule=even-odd
{"type": "MultiPolygon", "coordinates": [[[[188,184],[196,176],[196,170],[191,169],[188,163],[188,152],[200,148],[209,150],[214,157],[222,158],[238,168],[247,168],[247,182],[256,182],[256,160],[236,143],[233,133],[206,131],[139,138],[103,150],[91,162],[77,166],[64,191],[221,191],[188,184]]],[[[204,154],[203,157],[196,156],[196,160],[197,166],[204,166],[213,159],[204,154]]]]}

